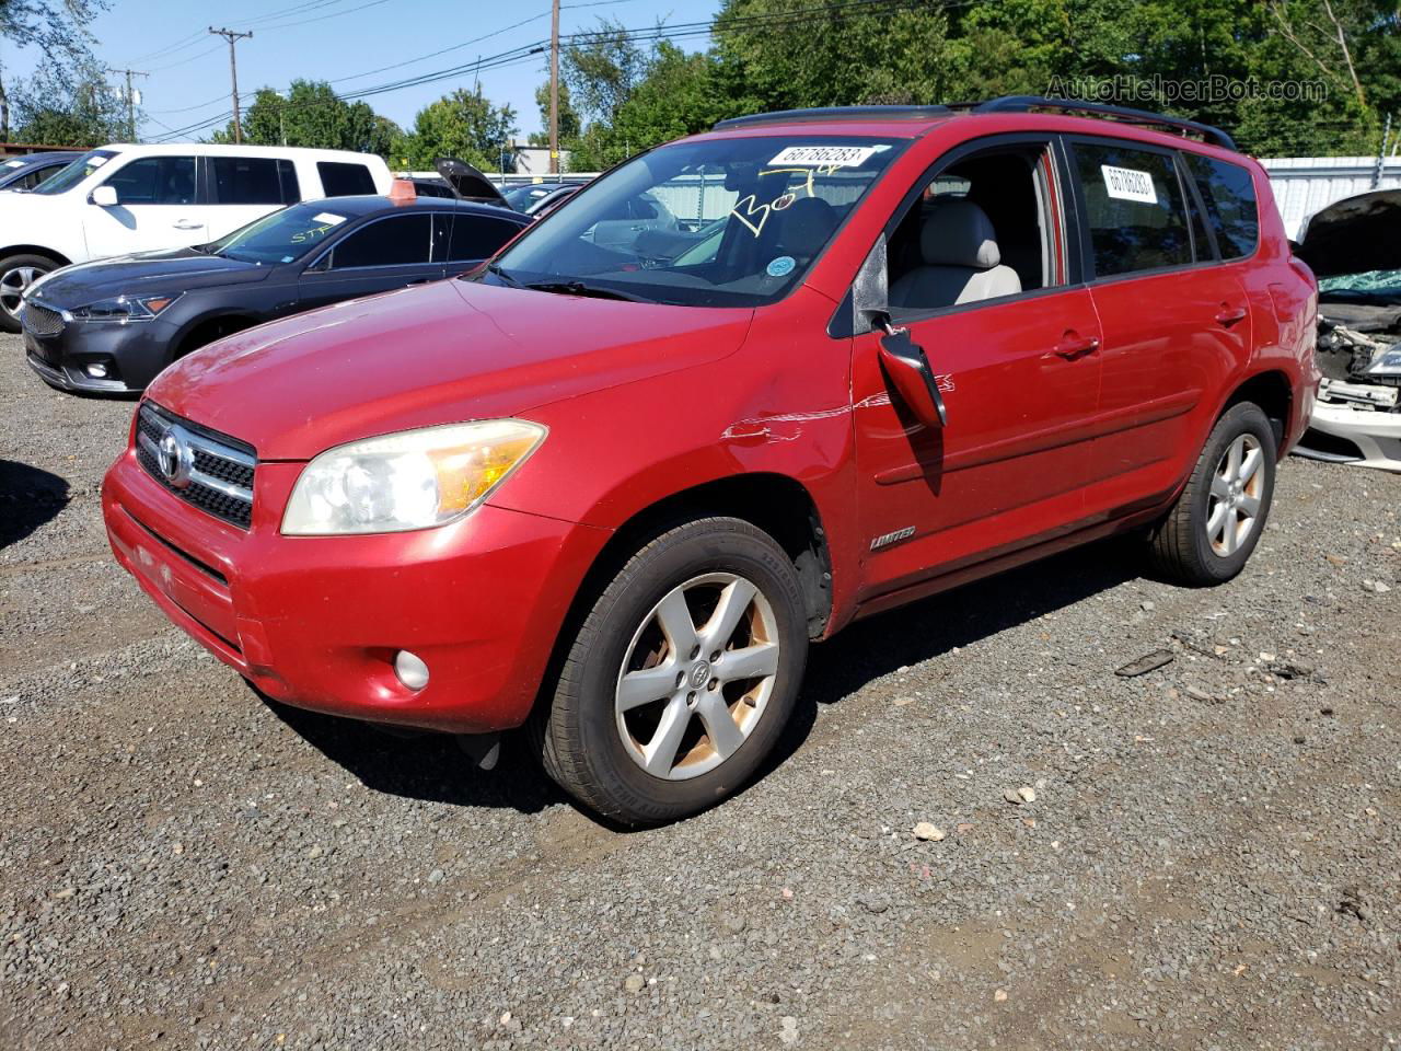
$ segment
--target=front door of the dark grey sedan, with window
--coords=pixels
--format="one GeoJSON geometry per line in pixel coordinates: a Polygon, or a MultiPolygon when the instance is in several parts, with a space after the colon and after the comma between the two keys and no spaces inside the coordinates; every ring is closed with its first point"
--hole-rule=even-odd
{"type": "Polygon", "coordinates": [[[444,273],[433,262],[433,217],[425,210],[371,219],[328,245],[297,280],[300,310],[425,284],[444,273]]]}

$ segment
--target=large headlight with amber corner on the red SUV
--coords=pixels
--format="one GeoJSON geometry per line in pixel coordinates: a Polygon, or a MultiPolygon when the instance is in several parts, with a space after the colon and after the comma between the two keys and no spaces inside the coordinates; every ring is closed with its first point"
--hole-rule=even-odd
{"type": "Polygon", "coordinates": [[[544,439],[538,423],[496,419],[339,446],[303,469],[282,531],[314,537],[443,526],[485,500],[544,439]]]}

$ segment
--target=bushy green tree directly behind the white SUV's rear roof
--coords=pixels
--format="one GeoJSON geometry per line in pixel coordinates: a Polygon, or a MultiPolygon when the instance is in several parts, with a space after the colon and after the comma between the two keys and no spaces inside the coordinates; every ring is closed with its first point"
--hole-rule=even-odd
{"type": "MultiPolygon", "coordinates": [[[[402,132],[366,102],[346,102],[324,80],[294,80],[284,98],[270,87],[258,88],[242,119],[244,142],[255,146],[308,146],[356,150],[388,157],[402,132]]],[[[213,136],[234,140],[233,123],[213,136]]]]}

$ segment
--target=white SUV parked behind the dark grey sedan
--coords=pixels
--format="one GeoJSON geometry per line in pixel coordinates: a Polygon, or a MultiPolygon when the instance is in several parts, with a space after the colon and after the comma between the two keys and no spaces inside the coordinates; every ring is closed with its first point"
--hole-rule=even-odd
{"type": "Polygon", "coordinates": [[[104,146],[28,193],[0,193],[0,331],[67,263],[213,241],[284,205],[388,193],[382,157],[277,146],[104,146]]]}

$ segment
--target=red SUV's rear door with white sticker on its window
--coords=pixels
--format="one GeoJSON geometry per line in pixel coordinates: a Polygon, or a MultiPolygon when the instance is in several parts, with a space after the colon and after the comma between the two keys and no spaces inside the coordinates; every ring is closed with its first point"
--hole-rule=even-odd
{"type": "Polygon", "coordinates": [[[1251,317],[1175,150],[1077,136],[1070,158],[1103,329],[1087,502],[1115,517],[1168,493],[1195,462],[1209,394],[1245,360],[1251,317]]]}

